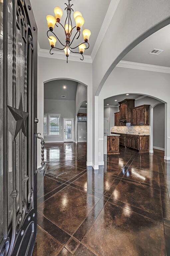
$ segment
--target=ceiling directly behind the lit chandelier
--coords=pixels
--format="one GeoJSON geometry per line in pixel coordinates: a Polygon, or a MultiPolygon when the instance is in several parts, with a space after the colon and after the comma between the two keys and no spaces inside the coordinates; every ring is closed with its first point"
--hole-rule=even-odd
{"type": "MultiPolygon", "coordinates": [[[[49,40],[47,37],[47,21],[46,16],[48,14],[54,15],[54,8],[59,6],[63,10],[63,16],[61,19],[61,23],[64,25],[65,19],[66,19],[66,11],[64,11],[66,5],[64,3],[68,3],[67,0],[30,0],[31,6],[33,9],[34,17],[37,23],[38,27],[38,42],[41,49],[50,49],[49,40]]],[[[103,19],[105,17],[105,14],[107,12],[109,3],[111,0],[97,0],[97,1],[80,1],[80,0],[72,0],[71,4],[74,4],[73,10],[74,11],[80,11],[83,14],[83,17],[85,19],[85,24],[83,26],[83,29],[87,28],[91,31],[91,36],[89,39],[90,47],[85,51],[84,54],[91,55],[93,46],[95,44],[95,41],[97,39],[100,27],[102,25],[103,19]]],[[[73,13],[72,13],[73,17],[73,13]]],[[[73,24],[75,24],[74,17],[72,18],[73,24]]],[[[75,25],[74,25],[75,26],[75,25]]],[[[76,30],[75,30],[76,31],[76,30]]],[[[61,42],[65,43],[65,34],[63,33],[63,28],[59,25],[59,27],[54,29],[54,32],[58,36],[58,38],[61,40],[61,42]]],[[[72,34],[72,38],[74,36],[74,33],[72,34]]],[[[77,41],[76,44],[73,46],[75,47],[79,43],[82,43],[83,35],[81,33],[81,36],[77,41]]],[[[56,43],[56,47],[60,48],[60,43],[56,43]]],[[[61,47],[62,48],[62,47],[61,47]]]]}

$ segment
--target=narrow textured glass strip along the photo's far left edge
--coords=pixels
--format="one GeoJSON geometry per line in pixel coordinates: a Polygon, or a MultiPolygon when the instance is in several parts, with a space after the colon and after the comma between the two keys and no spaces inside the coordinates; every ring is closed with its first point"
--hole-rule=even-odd
{"type": "MultiPolygon", "coordinates": [[[[0,99],[3,99],[3,1],[0,1],[0,99]]],[[[3,188],[3,100],[0,100],[0,188],[3,188]]],[[[3,189],[0,189],[0,243],[3,239],[3,189]]]]}

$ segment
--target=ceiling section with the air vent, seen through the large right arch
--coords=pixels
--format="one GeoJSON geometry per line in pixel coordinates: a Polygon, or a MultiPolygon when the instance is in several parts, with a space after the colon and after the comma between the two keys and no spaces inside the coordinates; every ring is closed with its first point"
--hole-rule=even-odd
{"type": "Polygon", "coordinates": [[[143,40],[122,60],[170,67],[170,25],[143,40]],[[154,48],[164,51],[159,55],[149,54],[154,48]]]}

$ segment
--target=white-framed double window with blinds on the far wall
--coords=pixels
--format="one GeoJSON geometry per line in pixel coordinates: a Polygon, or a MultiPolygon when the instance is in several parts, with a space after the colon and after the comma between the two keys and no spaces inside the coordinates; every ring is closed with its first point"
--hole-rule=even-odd
{"type": "Polygon", "coordinates": [[[60,135],[60,114],[44,114],[44,135],[60,135]]]}

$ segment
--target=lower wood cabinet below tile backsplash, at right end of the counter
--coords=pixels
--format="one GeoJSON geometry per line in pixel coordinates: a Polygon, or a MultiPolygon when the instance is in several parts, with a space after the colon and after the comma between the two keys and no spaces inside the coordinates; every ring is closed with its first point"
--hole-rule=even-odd
{"type": "Polygon", "coordinates": [[[149,135],[126,134],[126,147],[139,153],[149,152],[149,135]]]}

